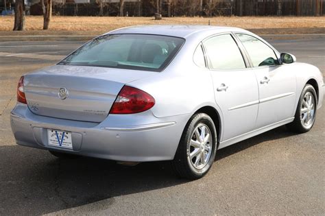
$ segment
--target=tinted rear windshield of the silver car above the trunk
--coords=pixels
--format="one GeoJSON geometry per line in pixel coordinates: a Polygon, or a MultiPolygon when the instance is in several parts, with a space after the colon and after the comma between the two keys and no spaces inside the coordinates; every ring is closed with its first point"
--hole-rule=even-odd
{"type": "Polygon", "coordinates": [[[146,34],[100,36],[58,64],[161,71],[182,47],[184,39],[146,34]]]}

